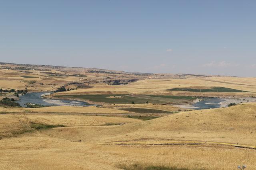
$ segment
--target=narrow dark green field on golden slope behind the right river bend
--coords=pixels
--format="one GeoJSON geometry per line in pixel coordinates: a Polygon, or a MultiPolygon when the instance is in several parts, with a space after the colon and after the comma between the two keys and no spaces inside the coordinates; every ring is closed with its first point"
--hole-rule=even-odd
{"type": "Polygon", "coordinates": [[[225,87],[212,87],[208,89],[196,89],[196,88],[172,88],[170,91],[187,91],[187,92],[247,92],[243,90],[237,90],[225,87]]]}

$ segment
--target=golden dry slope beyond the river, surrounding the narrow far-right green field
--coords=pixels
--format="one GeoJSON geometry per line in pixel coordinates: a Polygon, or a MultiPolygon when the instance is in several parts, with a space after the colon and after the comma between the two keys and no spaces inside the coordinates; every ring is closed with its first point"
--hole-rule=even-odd
{"type": "Polygon", "coordinates": [[[60,92],[55,95],[63,94],[156,94],[156,95],[208,95],[208,96],[251,96],[252,93],[195,93],[195,92],[170,92],[171,88],[200,87],[225,87],[249,92],[256,92],[256,78],[235,78],[235,77],[211,77],[211,78],[185,78],[185,79],[146,79],[126,85],[101,85],[94,88],[72,90],[60,92]]]}

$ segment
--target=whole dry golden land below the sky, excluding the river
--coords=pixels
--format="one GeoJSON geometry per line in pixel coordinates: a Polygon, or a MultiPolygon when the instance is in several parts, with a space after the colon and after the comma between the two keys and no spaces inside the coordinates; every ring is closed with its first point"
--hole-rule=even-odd
{"type": "Polygon", "coordinates": [[[0,169],[256,169],[256,78],[0,63],[0,88],[90,105],[0,106],[0,169]],[[179,107],[204,98],[241,102],[179,107]]]}

